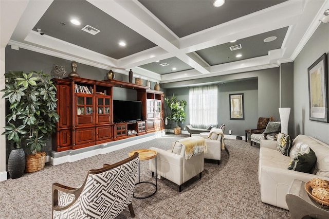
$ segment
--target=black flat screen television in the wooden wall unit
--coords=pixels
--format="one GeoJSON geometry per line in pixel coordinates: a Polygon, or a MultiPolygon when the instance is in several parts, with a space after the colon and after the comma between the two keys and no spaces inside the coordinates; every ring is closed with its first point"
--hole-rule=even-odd
{"type": "Polygon", "coordinates": [[[141,101],[113,100],[113,122],[136,122],[141,118],[141,101]]]}

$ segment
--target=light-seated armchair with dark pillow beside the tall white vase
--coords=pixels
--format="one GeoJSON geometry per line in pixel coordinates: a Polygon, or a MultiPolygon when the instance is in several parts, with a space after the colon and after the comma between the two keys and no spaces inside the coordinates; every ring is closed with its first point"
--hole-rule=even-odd
{"type": "Polygon", "coordinates": [[[275,135],[279,132],[281,132],[281,122],[269,121],[262,134],[251,134],[250,145],[252,145],[252,142],[254,142],[254,144],[261,143],[263,139],[276,140],[275,135]]]}

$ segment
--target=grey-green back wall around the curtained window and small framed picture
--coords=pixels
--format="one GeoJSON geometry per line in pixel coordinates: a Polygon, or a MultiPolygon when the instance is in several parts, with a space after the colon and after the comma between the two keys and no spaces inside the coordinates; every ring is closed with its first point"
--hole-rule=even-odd
{"type": "MultiPolygon", "coordinates": [[[[161,84],[161,86],[185,86],[184,88],[167,88],[166,95],[171,96],[175,94],[180,99],[188,101],[188,84],[195,84],[197,82],[223,83],[218,85],[218,124],[226,124],[225,134],[228,134],[228,130],[232,130],[232,135],[245,136],[246,129],[257,127],[258,117],[273,116],[276,121],[280,121],[278,109],[280,106],[279,73],[279,68],[270,68],[233,75],[204,78],[198,81],[187,80],[170,84],[161,84]],[[236,93],[244,93],[244,120],[229,119],[229,94],[236,93]]],[[[187,113],[187,119],[181,127],[189,124],[189,121],[190,118],[187,113]]],[[[168,125],[166,128],[171,129],[172,126],[168,125]]]]}

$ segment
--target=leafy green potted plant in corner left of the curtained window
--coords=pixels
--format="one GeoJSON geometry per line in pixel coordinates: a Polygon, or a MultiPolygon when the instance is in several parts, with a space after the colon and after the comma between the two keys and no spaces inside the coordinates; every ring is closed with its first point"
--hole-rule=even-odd
{"type": "Polygon", "coordinates": [[[185,120],[185,107],[187,105],[186,100],[177,100],[177,97],[174,95],[169,99],[165,98],[165,103],[170,109],[170,115],[168,119],[173,120],[176,124],[174,127],[174,133],[180,134],[180,122],[184,122],[185,120]]]}

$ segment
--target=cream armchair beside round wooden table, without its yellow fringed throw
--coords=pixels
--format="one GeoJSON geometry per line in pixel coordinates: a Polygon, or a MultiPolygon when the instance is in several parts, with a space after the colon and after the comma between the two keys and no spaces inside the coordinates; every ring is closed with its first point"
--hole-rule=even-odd
{"type": "MultiPolygon", "coordinates": [[[[204,153],[194,155],[189,159],[185,158],[185,145],[181,145],[181,150],[175,149],[173,146],[170,150],[162,150],[159,148],[150,148],[157,152],[157,174],[174,182],[179,186],[179,192],[181,191],[181,185],[189,179],[199,174],[199,178],[202,176],[202,171],[205,168],[204,153]]],[[[150,160],[149,168],[152,171],[152,175],[155,172],[155,159],[150,160]]],[[[155,176],[157,177],[157,176],[155,176]]]]}

